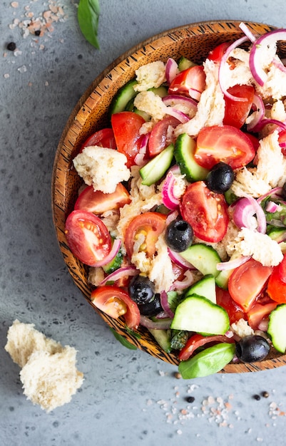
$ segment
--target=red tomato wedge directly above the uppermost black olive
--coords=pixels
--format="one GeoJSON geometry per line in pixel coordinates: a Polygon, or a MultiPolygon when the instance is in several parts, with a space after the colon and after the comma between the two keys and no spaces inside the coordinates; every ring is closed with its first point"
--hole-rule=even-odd
{"type": "Polygon", "coordinates": [[[233,169],[240,169],[255,156],[250,138],[232,125],[213,125],[200,130],[195,150],[195,160],[205,169],[220,161],[233,169]]]}

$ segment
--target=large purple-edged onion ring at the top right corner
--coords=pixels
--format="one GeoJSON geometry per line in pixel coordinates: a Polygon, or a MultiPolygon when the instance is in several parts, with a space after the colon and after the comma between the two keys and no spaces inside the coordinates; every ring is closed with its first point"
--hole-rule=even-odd
{"type": "Polygon", "coordinates": [[[261,53],[263,53],[265,46],[273,45],[277,43],[277,41],[285,41],[286,40],[286,30],[285,29],[275,29],[274,31],[270,31],[263,36],[257,38],[255,45],[250,49],[250,71],[252,73],[255,81],[263,86],[267,81],[267,73],[264,71],[260,64],[261,53]]]}

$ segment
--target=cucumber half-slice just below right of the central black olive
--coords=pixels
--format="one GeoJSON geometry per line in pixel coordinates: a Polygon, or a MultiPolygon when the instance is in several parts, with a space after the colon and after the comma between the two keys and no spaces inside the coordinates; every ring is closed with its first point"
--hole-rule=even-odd
{"type": "Polygon", "coordinates": [[[209,247],[203,243],[192,244],[188,249],[180,252],[180,255],[195,266],[204,276],[211,274],[218,276],[217,264],[221,259],[218,252],[213,247],[209,247]]]}

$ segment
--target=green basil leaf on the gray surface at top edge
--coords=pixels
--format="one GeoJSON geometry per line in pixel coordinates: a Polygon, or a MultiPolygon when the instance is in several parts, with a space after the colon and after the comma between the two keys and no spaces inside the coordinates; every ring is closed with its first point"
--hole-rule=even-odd
{"type": "Polygon", "coordinates": [[[97,49],[99,49],[97,38],[99,14],[99,0],[79,0],[78,25],[86,40],[97,49]]]}

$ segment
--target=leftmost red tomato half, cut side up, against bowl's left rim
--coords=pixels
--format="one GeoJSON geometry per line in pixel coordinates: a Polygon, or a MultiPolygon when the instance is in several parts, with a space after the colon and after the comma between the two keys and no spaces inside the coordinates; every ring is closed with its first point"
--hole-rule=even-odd
{"type": "Polygon", "coordinates": [[[71,252],[88,266],[97,266],[111,251],[111,235],[106,225],[91,212],[71,212],[66,219],[65,234],[71,252]]]}

